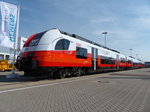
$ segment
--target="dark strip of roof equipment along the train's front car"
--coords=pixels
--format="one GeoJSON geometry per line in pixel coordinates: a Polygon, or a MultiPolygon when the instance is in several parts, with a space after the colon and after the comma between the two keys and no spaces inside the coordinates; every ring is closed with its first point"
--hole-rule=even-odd
{"type": "Polygon", "coordinates": [[[98,44],[98,43],[96,43],[96,42],[93,42],[93,41],[91,41],[91,40],[88,40],[88,39],[86,39],[86,38],[83,38],[83,37],[81,37],[81,36],[78,36],[78,35],[76,35],[76,34],[70,34],[70,33],[64,32],[64,31],[62,31],[62,30],[59,30],[59,31],[60,31],[60,33],[62,33],[62,34],[64,34],[64,35],[68,35],[68,36],[71,36],[71,37],[73,37],[73,38],[76,38],[76,39],[79,39],[79,40],[82,40],[82,41],[85,41],[85,42],[94,44],[94,45],[96,45],[96,46],[99,46],[99,47],[102,47],[102,48],[111,50],[111,51],[113,51],[113,52],[120,53],[119,51],[116,51],[116,50],[114,50],[114,49],[110,49],[110,48],[108,48],[108,47],[104,47],[104,46],[102,46],[102,45],[100,45],[100,44],[98,44]]]}

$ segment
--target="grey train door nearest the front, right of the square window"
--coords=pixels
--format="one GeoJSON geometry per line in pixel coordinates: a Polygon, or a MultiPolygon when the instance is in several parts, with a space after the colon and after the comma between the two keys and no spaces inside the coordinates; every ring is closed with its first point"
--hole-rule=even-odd
{"type": "Polygon", "coordinates": [[[98,68],[98,50],[92,47],[92,70],[98,68]]]}

